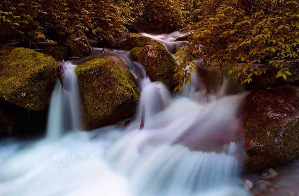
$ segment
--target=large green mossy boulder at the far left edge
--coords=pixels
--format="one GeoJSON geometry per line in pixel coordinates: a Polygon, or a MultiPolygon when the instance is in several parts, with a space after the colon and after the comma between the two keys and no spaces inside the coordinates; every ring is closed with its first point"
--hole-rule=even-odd
{"type": "Polygon", "coordinates": [[[0,99],[40,110],[50,102],[57,62],[26,48],[0,45],[0,99]]]}

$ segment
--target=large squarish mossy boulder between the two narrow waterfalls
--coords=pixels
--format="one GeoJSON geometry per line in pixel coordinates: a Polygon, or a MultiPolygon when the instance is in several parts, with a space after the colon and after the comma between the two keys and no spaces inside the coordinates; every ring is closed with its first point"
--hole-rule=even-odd
{"type": "Polygon", "coordinates": [[[118,57],[88,59],[75,72],[85,129],[115,124],[135,109],[140,92],[129,68],[118,57]]]}

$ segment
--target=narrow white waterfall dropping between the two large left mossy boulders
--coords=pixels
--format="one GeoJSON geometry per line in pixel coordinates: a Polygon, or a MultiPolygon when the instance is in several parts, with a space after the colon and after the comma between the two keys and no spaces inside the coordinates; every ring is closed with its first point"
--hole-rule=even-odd
{"type": "Polygon", "coordinates": [[[74,73],[76,65],[71,62],[63,62],[65,70],[62,87],[57,79],[52,92],[48,123],[47,138],[58,139],[66,130],[81,130],[82,115],[81,101],[77,75],[74,73]]]}

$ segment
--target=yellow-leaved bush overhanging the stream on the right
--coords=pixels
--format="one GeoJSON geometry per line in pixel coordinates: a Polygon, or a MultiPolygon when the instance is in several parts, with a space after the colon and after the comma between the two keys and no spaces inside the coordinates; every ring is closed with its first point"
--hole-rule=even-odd
{"type": "Polygon", "coordinates": [[[277,77],[286,79],[286,64],[298,58],[299,1],[281,0],[204,0],[200,1],[184,28],[189,32],[190,46],[176,53],[178,65],[175,90],[188,83],[195,70],[194,58],[202,58],[221,74],[250,83],[252,75],[265,69],[254,66],[268,63],[281,70],[277,77]]]}

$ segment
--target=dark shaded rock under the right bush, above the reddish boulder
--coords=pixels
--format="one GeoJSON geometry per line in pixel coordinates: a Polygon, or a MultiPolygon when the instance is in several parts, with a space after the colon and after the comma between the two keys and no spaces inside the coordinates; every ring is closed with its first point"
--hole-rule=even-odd
{"type": "Polygon", "coordinates": [[[297,85],[299,84],[299,59],[296,59],[294,62],[287,64],[285,68],[289,68],[289,72],[292,75],[288,75],[286,81],[282,78],[276,78],[277,72],[280,71],[280,67],[273,67],[268,64],[259,64],[256,65],[258,68],[267,69],[266,73],[261,76],[253,76],[253,81],[246,85],[248,90],[252,89],[267,89],[269,87],[280,87],[286,84],[297,85]]]}

